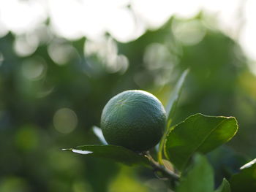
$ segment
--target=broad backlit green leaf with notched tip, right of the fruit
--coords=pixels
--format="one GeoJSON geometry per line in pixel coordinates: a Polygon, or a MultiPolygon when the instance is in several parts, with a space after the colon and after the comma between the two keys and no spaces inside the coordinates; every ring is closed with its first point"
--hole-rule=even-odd
{"type": "Polygon", "coordinates": [[[238,130],[236,118],[202,114],[189,116],[167,134],[167,158],[182,171],[195,153],[208,153],[229,141],[238,130]]]}

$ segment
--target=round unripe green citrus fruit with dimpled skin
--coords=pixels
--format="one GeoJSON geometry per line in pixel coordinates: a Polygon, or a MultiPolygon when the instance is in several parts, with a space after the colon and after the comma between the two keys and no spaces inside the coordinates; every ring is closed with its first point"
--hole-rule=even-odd
{"type": "Polygon", "coordinates": [[[157,97],[146,91],[129,90],[105,105],[101,128],[108,144],[142,152],[157,145],[165,122],[165,109],[157,97]]]}

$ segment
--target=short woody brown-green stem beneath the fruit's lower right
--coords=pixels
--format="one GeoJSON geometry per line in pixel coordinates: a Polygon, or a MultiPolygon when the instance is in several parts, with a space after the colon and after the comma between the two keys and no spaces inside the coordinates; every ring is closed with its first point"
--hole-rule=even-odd
{"type": "Polygon", "coordinates": [[[165,166],[159,164],[157,161],[154,160],[154,158],[152,158],[152,156],[150,155],[150,153],[147,151],[145,156],[148,158],[148,160],[151,163],[151,166],[159,172],[162,172],[162,174],[166,175],[167,177],[169,177],[170,179],[174,180],[174,181],[178,181],[179,180],[179,175],[170,171],[169,169],[166,169],[165,166]]]}

